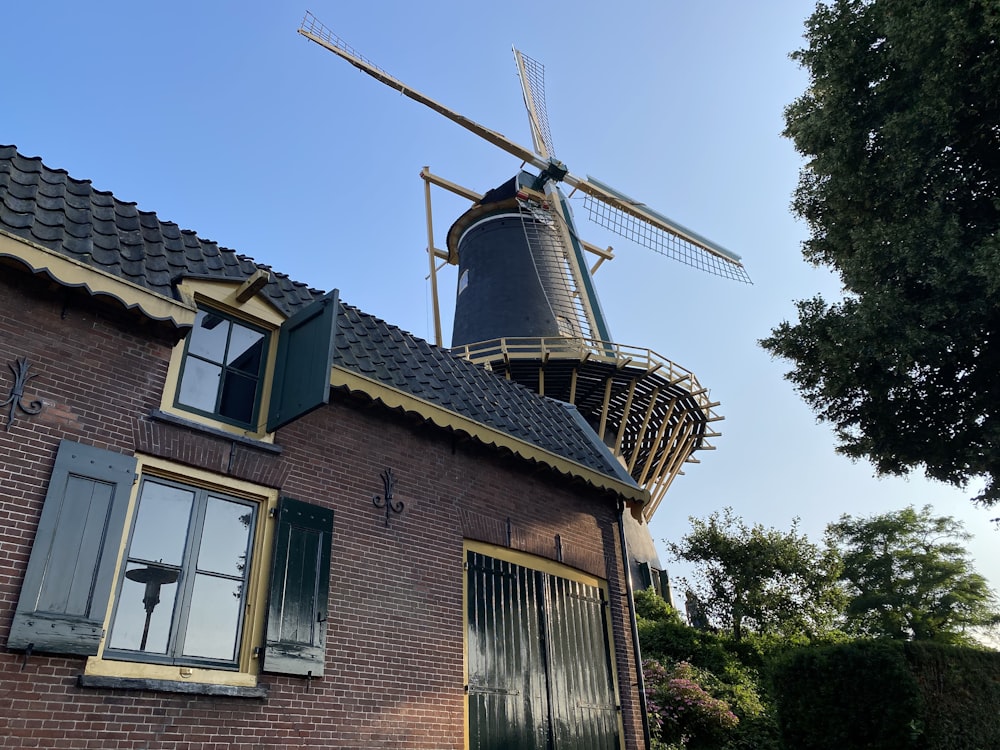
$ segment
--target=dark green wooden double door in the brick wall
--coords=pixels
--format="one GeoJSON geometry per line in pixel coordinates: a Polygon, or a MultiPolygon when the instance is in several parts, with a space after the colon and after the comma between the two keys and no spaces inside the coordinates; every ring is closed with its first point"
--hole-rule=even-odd
{"type": "Polygon", "coordinates": [[[602,591],[469,551],[472,750],[619,747],[602,591]]]}

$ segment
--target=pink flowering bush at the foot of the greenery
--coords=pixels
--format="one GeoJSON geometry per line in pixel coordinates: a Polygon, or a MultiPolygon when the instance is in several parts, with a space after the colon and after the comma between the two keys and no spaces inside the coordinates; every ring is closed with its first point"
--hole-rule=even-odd
{"type": "MultiPolygon", "coordinates": [[[[653,659],[643,663],[649,727],[661,743],[680,748],[718,747],[739,724],[724,700],[701,686],[703,676],[685,661],[666,666],[653,659]]],[[[662,746],[662,745],[661,745],[662,746]]]]}

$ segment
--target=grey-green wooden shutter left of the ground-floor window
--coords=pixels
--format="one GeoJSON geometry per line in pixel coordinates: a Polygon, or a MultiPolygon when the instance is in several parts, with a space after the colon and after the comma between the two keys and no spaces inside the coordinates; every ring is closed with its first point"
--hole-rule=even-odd
{"type": "Polygon", "coordinates": [[[135,466],[132,456],[60,443],[8,648],[97,653],[135,466]]]}

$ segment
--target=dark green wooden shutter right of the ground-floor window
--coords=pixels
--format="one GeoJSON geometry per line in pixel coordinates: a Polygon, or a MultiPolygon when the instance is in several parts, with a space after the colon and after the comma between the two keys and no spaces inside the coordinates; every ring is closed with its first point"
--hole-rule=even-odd
{"type": "Polygon", "coordinates": [[[332,510],[281,498],[268,595],[265,672],[323,675],[332,536],[332,510]]]}

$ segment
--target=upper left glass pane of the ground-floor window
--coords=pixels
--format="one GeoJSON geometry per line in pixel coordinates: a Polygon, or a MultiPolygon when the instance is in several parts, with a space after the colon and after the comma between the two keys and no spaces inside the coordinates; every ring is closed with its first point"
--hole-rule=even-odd
{"type": "Polygon", "coordinates": [[[129,559],[180,565],[193,501],[191,490],[145,480],[129,559]]]}

